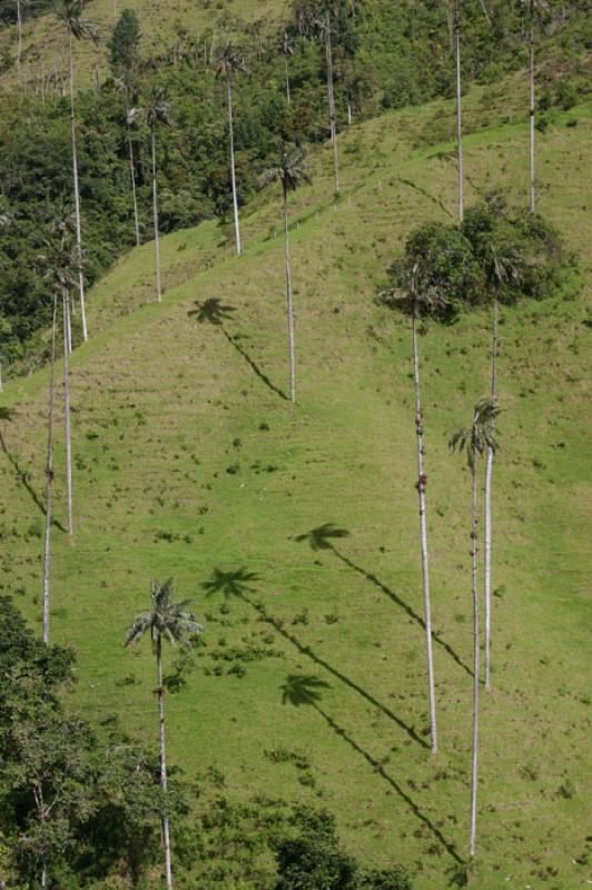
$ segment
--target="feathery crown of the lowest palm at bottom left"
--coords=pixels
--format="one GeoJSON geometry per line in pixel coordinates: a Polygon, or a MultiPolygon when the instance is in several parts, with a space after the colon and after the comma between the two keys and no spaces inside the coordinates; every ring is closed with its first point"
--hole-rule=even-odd
{"type": "Polygon", "coordinates": [[[152,607],[136,615],[127,632],[127,646],[141,640],[146,633],[150,634],[155,646],[162,636],[175,646],[178,643],[189,643],[193,636],[203,632],[204,627],[198,624],[196,616],[193,612],[187,611],[189,601],[182,600],[180,603],[175,603],[172,601],[174,593],[172,578],[164,584],[159,584],[157,581],[151,582],[152,607]]]}

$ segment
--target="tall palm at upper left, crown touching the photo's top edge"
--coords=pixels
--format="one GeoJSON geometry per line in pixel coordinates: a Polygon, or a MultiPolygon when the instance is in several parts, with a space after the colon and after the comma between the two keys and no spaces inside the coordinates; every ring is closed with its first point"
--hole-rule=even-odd
{"type": "Polygon", "coordinates": [[[82,320],[82,337],[88,340],[87,309],[85,300],[85,275],[82,270],[82,224],[80,220],[80,185],[78,181],[78,150],[76,142],[76,108],[75,108],[75,63],[72,44],[75,40],[91,40],[98,42],[98,32],[92,22],[82,18],[86,0],[56,0],[55,10],[58,20],[66,27],[68,34],[68,62],[70,68],[70,130],[72,140],[72,178],[75,192],[76,215],[76,246],[78,251],[78,287],[80,293],[80,316],[82,320]]]}

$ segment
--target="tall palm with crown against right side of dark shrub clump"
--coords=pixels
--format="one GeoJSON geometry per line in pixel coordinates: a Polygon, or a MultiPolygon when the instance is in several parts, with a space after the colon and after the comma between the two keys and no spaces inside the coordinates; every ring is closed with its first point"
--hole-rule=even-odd
{"type": "MultiPolygon", "coordinates": [[[[500,290],[502,287],[517,287],[522,279],[523,258],[513,245],[491,245],[487,264],[487,284],[493,297],[492,349],[491,349],[491,397],[497,399],[497,327],[500,314],[500,290]]],[[[495,432],[495,415],[491,417],[491,434],[495,432]]],[[[492,565],[492,484],[494,448],[487,445],[485,465],[485,688],[491,689],[491,565],[492,565]]]]}

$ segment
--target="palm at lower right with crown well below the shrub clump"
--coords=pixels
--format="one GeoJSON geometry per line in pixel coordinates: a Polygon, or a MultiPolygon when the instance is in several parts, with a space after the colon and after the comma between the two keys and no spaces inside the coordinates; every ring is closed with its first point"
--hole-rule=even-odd
{"type": "Polygon", "coordinates": [[[471,765],[471,829],[468,854],[475,856],[476,820],[477,820],[477,781],[478,781],[478,683],[480,683],[480,629],[477,594],[477,473],[478,457],[483,457],[487,448],[495,451],[497,443],[493,435],[493,422],[500,408],[493,398],[481,398],[473,409],[471,425],[460,429],[450,442],[451,452],[458,448],[465,451],[472,481],[472,595],[473,595],[473,750],[471,765]]]}

